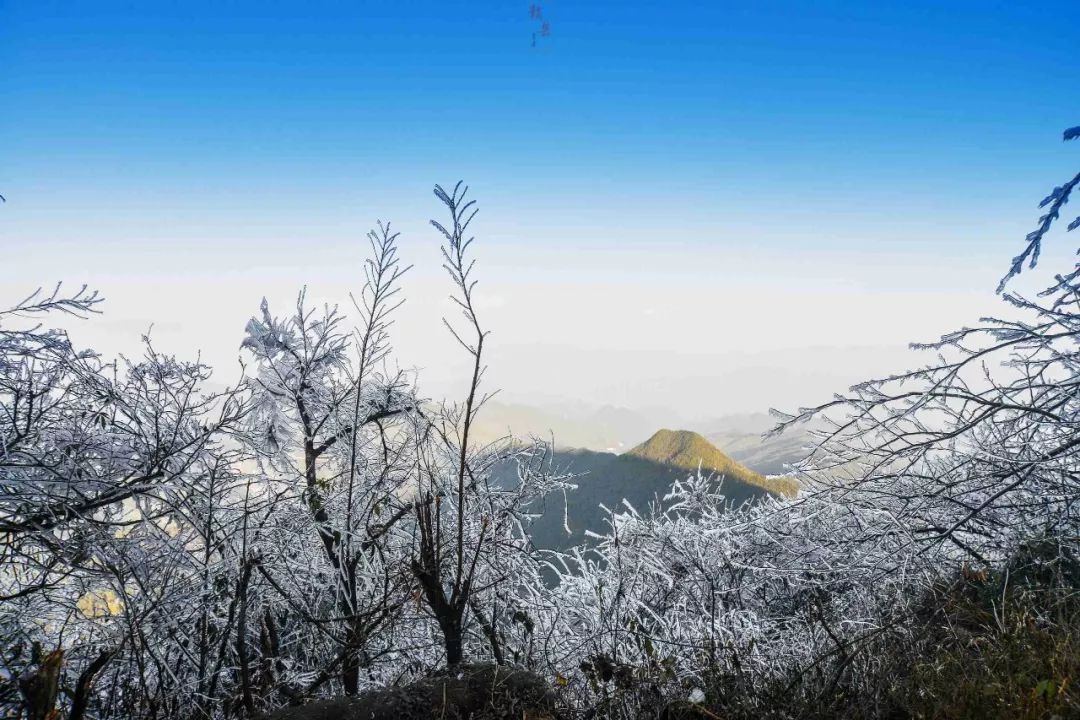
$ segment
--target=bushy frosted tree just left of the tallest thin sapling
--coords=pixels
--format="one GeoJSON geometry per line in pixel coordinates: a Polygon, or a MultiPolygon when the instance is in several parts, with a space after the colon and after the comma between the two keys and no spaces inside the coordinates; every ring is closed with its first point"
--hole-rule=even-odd
{"type": "MultiPolygon", "coordinates": [[[[417,411],[408,376],[390,370],[389,327],[397,307],[397,235],[379,226],[349,330],[336,308],[318,312],[301,293],[294,312],[247,326],[256,358],[251,441],[272,498],[255,531],[264,616],[307,657],[295,692],[332,677],[355,693],[361,673],[396,652],[393,626],[407,575],[397,525],[411,512],[417,411]],[[302,648],[301,648],[302,647],[302,648]]],[[[276,652],[283,652],[279,648],[276,652]]]]}

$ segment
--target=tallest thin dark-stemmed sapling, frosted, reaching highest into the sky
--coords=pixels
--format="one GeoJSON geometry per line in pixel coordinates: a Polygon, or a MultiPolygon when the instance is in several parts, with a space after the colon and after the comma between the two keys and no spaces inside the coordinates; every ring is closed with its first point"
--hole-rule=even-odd
{"type": "MultiPolygon", "coordinates": [[[[481,386],[488,332],[476,315],[475,259],[470,252],[474,237],[468,230],[477,210],[474,201],[465,200],[467,192],[461,182],[451,192],[436,185],[435,196],[449,212],[449,222],[431,223],[445,241],[443,267],[454,287],[450,299],[464,321],[444,323],[471,359],[472,372],[463,402],[434,408],[421,431],[410,561],[450,666],[465,658],[470,619],[499,663],[508,658],[504,646],[514,629],[532,631],[528,588],[540,582],[540,566],[524,529],[526,507],[564,487],[550,472],[542,444],[523,446],[503,438],[480,445],[472,437],[476,415],[489,397],[481,386]],[[516,467],[514,480],[496,481],[492,470],[505,462],[516,467]]],[[[528,639],[518,640],[513,654],[524,660],[528,639]]]]}

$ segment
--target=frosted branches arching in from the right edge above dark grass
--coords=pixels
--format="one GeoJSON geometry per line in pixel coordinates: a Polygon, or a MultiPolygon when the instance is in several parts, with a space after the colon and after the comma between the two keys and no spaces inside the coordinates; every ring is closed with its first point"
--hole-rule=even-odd
{"type": "MultiPolygon", "coordinates": [[[[1065,139],[1080,135],[1067,131],[1065,139]]],[[[1042,201],[1037,228],[1002,279],[1039,257],[1080,175],[1042,201]]],[[[1072,220],[1067,230],[1080,226],[1072,220]]],[[[895,532],[991,562],[1018,536],[1076,528],[1080,491],[1080,267],[1028,299],[1003,293],[1010,317],[984,317],[937,342],[929,365],[866,382],[785,422],[832,418],[802,466],[814,487],[890,511],[895,532]]],[[[881,530],[885,532],[885,530],[881,530]]]]}

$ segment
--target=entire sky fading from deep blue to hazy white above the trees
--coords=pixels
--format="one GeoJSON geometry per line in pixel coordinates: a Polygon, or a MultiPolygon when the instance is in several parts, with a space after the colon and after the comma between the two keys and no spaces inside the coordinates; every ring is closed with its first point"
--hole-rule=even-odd
{"type": "Polygon", "coordinates": [[[0,302],[89,283],[77,340],[152,322],[225,380],[262,296],[347,301],[381,218],[399,359],[456,392],[427,220],[463,178],[491,386],[789,408],[994,311],[1075,172],[1076,2],[539,4],[534,47],[524,1],[0,0],[0,302]]]}

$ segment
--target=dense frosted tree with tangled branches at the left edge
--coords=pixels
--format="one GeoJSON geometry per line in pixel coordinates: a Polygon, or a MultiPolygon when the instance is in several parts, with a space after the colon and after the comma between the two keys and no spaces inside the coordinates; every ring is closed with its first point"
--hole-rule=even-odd
{"type": "Polygon", "coordinates": [[[162,692],[168,674],[152,677],[162,648],[148,636],[192,597],[180,587],[190,503],[207,463],[231,465],[222,438],[246,411],[238,390],[206,391],[207,367],[149,340],[141,358],[106,363],[43,325],[99,302],[57,287],[0,312],[0,702],[17,702],[16,684],[30,702],[49,676],[51,693],[33,702],[44,712],[59,695],[70,718],[107,669],[141,666],[140,699],[118,692],[117,702],[145,707],[162,692]]]}

